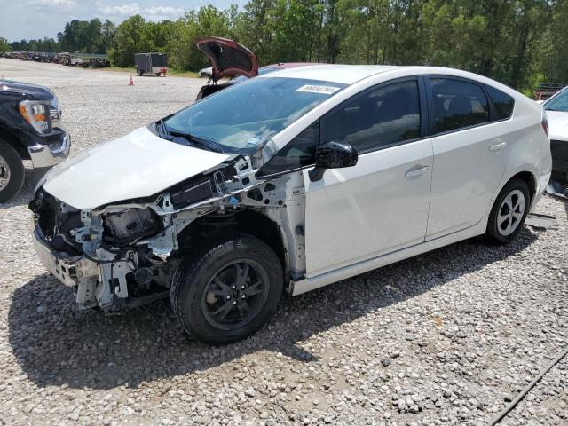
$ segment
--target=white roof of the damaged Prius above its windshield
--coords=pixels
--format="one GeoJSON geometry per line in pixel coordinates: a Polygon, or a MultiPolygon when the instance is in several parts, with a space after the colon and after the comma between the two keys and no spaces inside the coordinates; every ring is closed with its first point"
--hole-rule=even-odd
{"type": "Polygon", "coordinates": [[[310,67],[290,67],[274,71],[266,75],[258,75],[259,78],[288,77],[304,78],[306,80],[321,80],[324,82],[335,82],[352,84],[359,82],[371,75],[397,69],[390,65],[338,65],[323,64],[310,67]]]}

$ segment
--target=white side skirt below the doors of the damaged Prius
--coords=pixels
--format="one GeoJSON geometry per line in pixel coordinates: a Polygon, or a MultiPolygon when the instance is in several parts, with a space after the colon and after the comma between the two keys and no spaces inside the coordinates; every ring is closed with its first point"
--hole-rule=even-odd
{"type": "Polygon", "coordinates": [[[464,229],[463,231],[459,231],[457,233],[451,233],[449,235],[439,237],[436,240],[425,241],[409,248],[403,248],[401,250],[394,251],[392,253],[389,253],[388,255],[374,257],[357,264],[345,266],[335,271],[322,273],[320,275],[316,275],[315,277],[304,278],[304,280],[294,281],[291,283],[292,296],[301,295],[306,291],[327,286],[327,284],[331,284],[336,281],[346,280],[348,278],[354,277],[355,275],[359,275],[361,273],[369,272],[382,266],[386,266],[387,264],[394,264],[395,262],[407,259],[408,257],[422,255],[422,253],[426,253],[428,251],[444,247],[449,244],[454,244],[454,242],[467,240],[469,238],[476,237],[477,235],[482,235],[485,233],[485,229],[487,228],[487,219],[488,217],[485,217],[485,219],[478,222],[477,225],[473,225],[468,229],[464,229]]]}

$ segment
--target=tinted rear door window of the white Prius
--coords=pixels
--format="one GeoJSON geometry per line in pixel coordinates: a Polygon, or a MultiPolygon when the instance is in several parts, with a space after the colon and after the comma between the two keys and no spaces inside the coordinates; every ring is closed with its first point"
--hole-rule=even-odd
{"type": "Polygon", "coordinates": [[[451,78],[430,78],[436,133],[489,121],[485,92],[475,83],[451,78]]]}

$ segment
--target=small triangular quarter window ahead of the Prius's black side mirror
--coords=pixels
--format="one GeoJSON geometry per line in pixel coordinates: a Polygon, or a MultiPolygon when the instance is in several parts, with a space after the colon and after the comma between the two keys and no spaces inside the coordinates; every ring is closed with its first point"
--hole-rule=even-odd
{"type": "Polygon", "coordinates": [[[313,122],[296,138],[284,146],[264,166],[258,176],[268,176],[283,171],[298,170],[314,163],[315,146],[319,141],[319,120],[313,122]]]}

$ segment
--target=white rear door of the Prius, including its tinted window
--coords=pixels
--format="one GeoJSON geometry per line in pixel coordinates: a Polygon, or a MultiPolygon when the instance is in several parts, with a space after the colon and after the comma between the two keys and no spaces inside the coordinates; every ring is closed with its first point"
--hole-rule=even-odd
{"type": "Polygon", "coordinates": [[[434,150],[426,240],[476,225],[493,203],[509,159],[506,121],[483,85],[453,76],[426,79],[434,150]]]}

